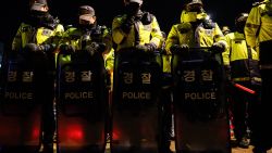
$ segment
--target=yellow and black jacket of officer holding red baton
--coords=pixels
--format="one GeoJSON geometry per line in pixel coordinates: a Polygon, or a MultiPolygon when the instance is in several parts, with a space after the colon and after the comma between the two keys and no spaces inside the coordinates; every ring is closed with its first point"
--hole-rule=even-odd
{"type": "Polygon", "coordinates": [[[238,31],[225,36],[227,48],[222,53],[224,65],[230,67],[233,81],[261,81],[259,73],[259,56],[256,50],[250,48],[245,35],[238,31]]]}

